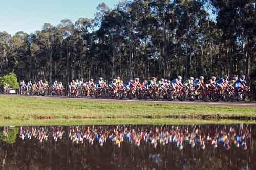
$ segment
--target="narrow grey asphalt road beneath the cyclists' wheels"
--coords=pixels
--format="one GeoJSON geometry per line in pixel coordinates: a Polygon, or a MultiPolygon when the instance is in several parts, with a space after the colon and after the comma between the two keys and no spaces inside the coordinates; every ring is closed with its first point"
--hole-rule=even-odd
{"type": "Polygon", "coordinates": [[[34,98],[34,99],[55,99],[55,100],[80,100],[80,101],[98,101],[98,102],[123,102],[123,103],[153,103],[153,104],[181,104],[181,105],[199,105],[199,106],[231,106],[231,107],[256,107],[255,102],[203,102],[203,101],[164,101],[164,100],[127,100],[127,99],[92,99],[92,98],[67,98],[67,97],[57,97],[57,96],[21,96],[21,95],[4,95],[12,98],[34,98]]]}

